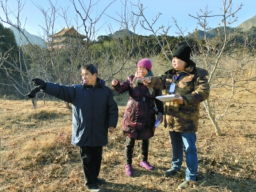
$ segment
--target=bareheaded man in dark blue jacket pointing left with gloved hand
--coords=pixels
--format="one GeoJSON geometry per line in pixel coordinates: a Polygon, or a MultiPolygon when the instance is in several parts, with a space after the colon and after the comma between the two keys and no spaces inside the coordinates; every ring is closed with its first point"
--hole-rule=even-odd
{"type": "Polygon", "coordinates": [[[82,68],[82,84],[65,86],[45,83],[33,79],[35,88],[29,98],[43,90],[44,93],[72,103],[72,144],[80,147],[83,164],[84,182],[90,191],[103,191],[98,184],[102,160],[102,146],[108,143],[108,132],[113,134],[118,121],[118,107],[115,96],[102,79],[97,77],[98,70],[92,65],[82,68]]]}

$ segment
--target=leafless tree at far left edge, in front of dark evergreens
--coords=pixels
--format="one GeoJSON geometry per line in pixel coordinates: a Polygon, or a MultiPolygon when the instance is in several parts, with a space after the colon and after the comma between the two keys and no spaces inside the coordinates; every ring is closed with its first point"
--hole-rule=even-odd
{"type": "MultiPolygon", "coordinates": [[[[30,43],[28,37],[24,34],[24,29],[21,27],[20,17],[22,17],[21,12],[24,9],[24,3],[22,1],[17,0],[17,9],[11,10],[8,5],[8,1],[1,1],[0,8],[4,13],[5,17],[0,17],[1,22],[9,24],[14,28],[18,29],[20,34],[20,40],[22,39],[21,36],[24,36],[26,40],[30,43]],[[15,16],[16,23],[10,19],[10,15],[15,16]]],[[[32,45],[32,44],[31,44],[32,45]]],[[[32,45],[36,50],[37,47],[32,45]]],[[[8,51],[13,51],[13,47],[8,51]]],[[[31,74],[29,72],[28,62],[26,60],[26,56],[24,55],[24,46],[19,47],[15,52],[17,54],[9,54],[6,52],[0,52],[0,59],[2,61],[1,67],[4,68],[6,72],[6,77],[10,80],[11,85],[15,87],[15,89],[23,96],[26,95],[32,88],[31,84],[31,74]]],[[[36,100],[32,99],[33,106],[36,106],[36,100]]]]}

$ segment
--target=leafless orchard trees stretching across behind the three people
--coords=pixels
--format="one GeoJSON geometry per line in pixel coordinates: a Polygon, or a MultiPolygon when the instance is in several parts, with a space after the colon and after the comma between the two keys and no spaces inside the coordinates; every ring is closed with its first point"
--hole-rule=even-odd
{"type": "MultiPolygon", "coordinates": [[[[75,26],[77,30],[83,31],[85,38],[83,42],[70,41],[68,49],[49,49],[51,46],[49,43],[48,47],[46,45],[39,47],[33,44],[17,47],[17,45],[9,44],[2,49],[0,72],[4,81],[1,82],[1,87],[7,89],[11,86],[19,98],[22,96],[24,98],[26,93],[33,88],[31,84],[33,77],[41,77],[45,81],[61,84],[78,83],[79,69],[87,62],[97,65],[101,77],[107,83],[113,77],[124,79],[129,74],[133,74],[136,63],[143,57],[155,60],[155,63],[159,65],[156,67],[157,74],[161,74],[171,65],[172,51],[178,45],[185,43],[193,47],[192,57],[197,65],[208,70],[211,90],[219,87],[227,87],[231,90],[228,98],[210,97],[204,102],[205,111],[216,129],[217,135],[221,135],[218,122],[225,119],[225,115],[228,113],[239,113],[244,106],[244,103],[239,103],[236,104],[236,108],[230,108],[234,105],[234,100],[232,100],[234,95],[239,92],[252,92],[255,89],[248,87],[251,81],[255,81],[255,34],[232,29],[232,24],[237,19],[236,13],[243,8],[243,4],[233,8],[232,1],[223,0],[221,15],[211,15],[209,7],[200,10],[195,15],[190,15],[197,20],[197,28],[204,31],[203,38],[198,37],[197,29],[185,36],[184,31],[177,24],[177,20],[173,18],[173,23],[179,30],[178,37],[175,38],[168,36],[168,30],[172,26],[155,28],[154,24],[161,17],[161,13],[154,19],[145,17],[145,8],[140,2],[131,4],[129,1],[124,1],[122,8],[124,12],[118,15],[119,18],[111,18],[113,22],[120,24],[122,32],[118,33],[118,36],[98,37],[95,36],[98,30],[97,22],[102,18],[108,6],[115,1],[109,3],[97,17],[91,16],[93,6],[96,5],[92,1],[86,3],[81,0],[70,1],[70,6],[76,10],[76,15],[73,17],[77,18],[77,23],[70,23],[67,8],[56,7],[51,1],[48,3],[47,8],[35,4],[38,13],[44,18],[40,28],[44,29],[45,42],[51,43],[50,36],[56,33],[54,24],[57,15],[65,20],[66,26],[63,27],[75,26]],[[209,17],[220,17],[220,22],[223,23],[223,26],[216,29],[218,34],[214,38],[207,37],[207,33],[211,30],[207,21],[209,17]],[[136,35],[138,26],[150,31],[152,35],[136,35]],[[239,40],[237,40],[238,35],[239,40]],[[224,111],[218,109],[220,105],[225,106],[224,111]]],[[[17,1],[17,6],[18,9],[13,11],[10,9],[8,1],[1,1],[1,12],[4,12],[6,16],[1,17],[1,22],[17,28],[22,36],[24,35],[22,29],[26,28],[26,23],[21,23],[20,17],[22,17],[22,9],[26,6],[26,2],[17,1]],[[17,18],[15,22],[9,19],[10,14],[17,18]]],[[[115,31],[109,26],[109,34],[113,33],[115,31]]],[[[6,38],[8,36],[1,35],[1,40],[6,38]]],[[[3,92],[1,93],[3,95],[3,92]]],[[[36,99],[33,99],[32,102],[36,108],[36,99]]]]}

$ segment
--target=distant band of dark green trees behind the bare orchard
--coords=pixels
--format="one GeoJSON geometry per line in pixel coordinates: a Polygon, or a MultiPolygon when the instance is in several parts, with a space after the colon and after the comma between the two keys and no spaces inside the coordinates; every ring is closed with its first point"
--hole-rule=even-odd
{"type": "MultiPolygon", "coordinates": [[[[223,28],[212,29],[205,35],[206,38],[211,40],[212,47],[218,47],[218,44],[220,44],[219,39],[223,38],[223,31],[221,30],[223,30],[223,28]]],[[[225,51],[243,49],[244,45],[251,47],[249,51],[254,51],[256,45],[254,41],[256,37],[256,27],[253,26],[248,31],[239,31],[238,29],[235,31],[235,29],[230,28],[228,28],[228,30],[234,35],[230,37],[232,40],[228,42],[225,51]]],[[[103,60],[102,56],[105,56],[104,60],[106,60],[106,54],[108,54],[108,61],[104,62],[112,65],[111,63],[114,62],[111,62],[111,60],[118,57],[120,57],[121,60],[122,58],[120,51],[118,51],[120,47],[124,49],[123,51],[131,52],[129,55],[131,58],[159,56],[159,58],[166,60],[167,58],[172,58],[172,51],[176,49],[177,45],[184,44],[184,42],[191,45],[193,51],[197,54],[200,54],[200,50],[207,49],[207,47],[205,47],[204,34],[200,30],[184,37],[166,35],[143,36],[136,35],[124,29],[116,31],[116,33],[112,35],[98,36],[97,40],[83,42],[83,44],[77,46],[76,49],[70,49],[70,47],[67,49],[66,47],[62,50],[55,51],[55,58],[53,60],[51,55],[53,51],[49,49],[49,47],[44,48],[36,45],[17,46],[12,30],[4,28],[3,25],[0,24],[0,54],[6,58],[6,61],[0,60],[0,97],[3,97],[3,95],[15,95],[15,97],[24,98],[24,96],[14,88],[13,84],[15,83],[13,82],[16,81],[16,83],[26,84],[29,82],[29,79],[20,77],[20,72],[14,69],[12,70],[12,65],[19,65],[20,70],[26,69],[29,71],[32,68],[33,70],[35,70],[35,68],[39,70],[40,67],[38,66],[42,65],[42,63],[55,63],[54,68],[52,68],[51,65],[45,65],[41,70],[45,70],[45,72],[51,76],[52,81],[58,80],[56,71],[59,70],[59,73],[63,73],[63,79],[68,79],[67,81],[63,80],[62,83],[68,84],[74,81],[74,77],[71,75],[65,77],[65,72],[70,72],[70,66],[79,70],[84,61],[89,60],[97,62],[103,60]],[[83,50],[83,60],[79,60],[79,56],[77,56],[81,50],[83,50]],[[165,54],[163,54],[163,50],[165,54]],[[42,54],[42,52],[44,54],[42,54]],[[44,61],[42,61],[42,55],[45,57],[44,61]],[[74,56],[77,56],[75,63],[70,59],[74,56]],[[12,77],[10,77],[10,72],[12,72],[12,77]],[[15,76],[15,74],[17,74],[17,76],[15,76]]],[[[216,49],[215,51],[218,50],[216,49]]],[[[35,71],[33,73],[39,74],[39,72],[35,71]]],[[[23,92],[25,92],[25,90],[23,90],[23,92]]]]}

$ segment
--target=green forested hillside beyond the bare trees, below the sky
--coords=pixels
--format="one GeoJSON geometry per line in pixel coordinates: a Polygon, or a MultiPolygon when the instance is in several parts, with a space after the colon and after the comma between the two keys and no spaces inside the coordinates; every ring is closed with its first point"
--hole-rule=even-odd
{"type": "MultiPolygon", "coordinates": [[[[254,47],[256,44],[254,41],[256,37],[256,27],[253,26],[247,31],[228,27],[226,28],[226,30],[227,34],[232,34],[232,40],[229,40],[225,45],[225,52],[230,52],[236,49],[238,50],[236,51],[238,53],[239,50],[243,50],[244,45],[249,46],[249,52],[254,52],[254,47]]],[[[52,61],[50,59],[52,53],[54,53],[54,55],[56,56],[56,58],[54,59],[54,63],[56,64],[56,66],[54,68],[57,70],[63,68],[64,71],[69,71],[68,65],[70,66],[72,62],[70,60],[70,57],[74,56],[75,54],[86,54],[86,61],[90,61],[92,63],[95,63],[96,65],[99,65],[98,63],[105,62],[108,63],[109,67],[111,65],[114,65],[114,63],[118,60],[122,62],[125,60],[128,62],[135,60],[132,61],[132,64],[130,64],[130,72],[125,72],[125,74],[132,74],[132,68],[136,66],[136,61],[138,61],[140,58],[161,58],[162,63],[165,63],[164,65],[169,65],[168,60],[170,60],[170,58],[172,57],[172,50],[175,50],[175,47],[177,47],[177,45],[184,43],[191,45],[194,54],[202,54],[202,48],[207,47],[207,43],[204,40],[204,31],[200,30],[195,31],[188,36],[143,36],[136,35],[135,33],[132,33],[127,29],[122,29],[120,31],[116,31],[111,35],[98,36],[97,40],[89,40],[82,43],[82,46],[84,47],[82,50],[79,47],[72,47],[72,53],[70,52],[70,49],[61,49],[52,52],[49,47],[42,47],[42,45],[41,47],[38,47],[35,44],[27,44],[23,45],[22,47],[18,47],[15,38],[13,38],[14,35],[12,33],[12,30],[4,28],[1,24],[0,33],[3,34],[3,36],[1,37],[1,53],[3,56],[6,56],[6,54],[8,54],[8,57],[6,57],[6,61],[11,61],[10,63],[12,63],[12,61],[20,61],[19,65],[21,66],[24,65],[22,63],[26,63],[26,67],[28,67],[27,70],[31,70],[31,72],[36,72],[35,70],[38,67],[38,64],[43,64],[45,65],[45,70],[48,68],[47,70],[49,70],[49,74],[51,74],[49,77],[47,77],[49,81],[59,81],[58,77],[56,77],[58,75],[52,74],[56,73],[56,71],[51,72],[51,68],[49,68],[49,66],[52,65],[52,61]],[[19,58],[17,58],[18,56],[20,56],[20,54],[24,56],[22,60],[19,60],[19,58]],[[40,54],[42,54],[44,58],[38,58],[40,54]]],[[[207,32],[205,36],[210,44],[212,44],[213,46],[217,46],[218,43],[216,42],[218,42],[220,38],[224,38],[224,29],[223,27],[211,29],[211,31],[207,32]]],[[[81,67],[82,65],[81,61],[79,61],[79,63],[77,61],[78,60],[73,63],[74,68],[72,70],[74,71],[76,71],[76,69],[81,67]]],[[[2,65],[2,67],[0,68],[0,79],[3,82],[1,84],[0,96],[3,97],[3,95],[5,95],[5,97],[24,99],[24,95],[26,95],[26,93],[29,91],[29,88],[20,87],[19,93],[17,92],[17,88],[15,88],[13,84],[22,84],[24,83],[24,81],[25,83],[28,83],[29,81],[26,80],[26,78],[24,79],[19,76],[10,77],[10,74],[8,72],[6,73],[6,68],[12,66],[10,65],[10,63],[8,64],[7,62],[6,65],[2,65]]],[[[16,65],[15,63],[13,64],[16,65]]],[[[11,70],[13,70],[13,72],[17,71],[15,69],[11,70]]],[[[104,78],[109,81],[109,79],[111,79],[109,78],[111,74],[105,74],[105,72],[106,71],[104,70],[104,74],[102,74],[102,76],[104,76],[104,78]]],[[[79,82],[76,77],[68,75],[68,78],[69,79],[62,79],[61,83],[70,84],[79,82]]]]}

